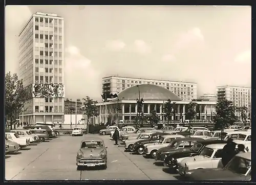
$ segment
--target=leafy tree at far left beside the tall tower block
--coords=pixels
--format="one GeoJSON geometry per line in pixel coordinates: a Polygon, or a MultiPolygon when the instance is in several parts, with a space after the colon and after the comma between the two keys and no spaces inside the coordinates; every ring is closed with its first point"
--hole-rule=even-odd
{"type": "Polygon", "coordinates": [[[6,121],[10,120],[10,127],[16,123],[16,118],[22,112],[27,100],[32,98],[32,93],[28,88],[24,88],[22,80],[18,79],[16,73],[11,75],[11,72],[5,75],[5,116],[6,121]]]}

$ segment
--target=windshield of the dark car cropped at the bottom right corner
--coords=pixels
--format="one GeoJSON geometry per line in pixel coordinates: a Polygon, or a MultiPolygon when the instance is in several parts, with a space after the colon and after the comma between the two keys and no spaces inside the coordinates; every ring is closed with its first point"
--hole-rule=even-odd
{"type": "Polygon", "coordinates": [[[225,168],[234,173],[245,175],[248,170],[250,170],[250,167],[251,160],[239,156],[234,156],[225,168]]]}

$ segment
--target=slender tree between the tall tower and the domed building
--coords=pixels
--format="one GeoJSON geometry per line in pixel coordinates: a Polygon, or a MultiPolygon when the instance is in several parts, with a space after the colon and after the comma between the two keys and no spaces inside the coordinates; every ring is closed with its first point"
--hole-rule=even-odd
{"type": "Polygon", "coordinates": [[[84,114],[87,116],[87,133],[89,133],[89,120],[93,117],[98,117],[99,111],[95,102],[89,96],[83,98],[84,114]]]}

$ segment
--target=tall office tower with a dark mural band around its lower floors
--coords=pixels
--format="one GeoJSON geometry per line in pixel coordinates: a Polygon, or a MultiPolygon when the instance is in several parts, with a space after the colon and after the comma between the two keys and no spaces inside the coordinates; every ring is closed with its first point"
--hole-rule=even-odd
{"type": "Polygon", "coordinates": [[[31,92],[20,122],[62,123],[64,115],[64,20],[33,14],[19,33],[19,78],[31,92]]]}

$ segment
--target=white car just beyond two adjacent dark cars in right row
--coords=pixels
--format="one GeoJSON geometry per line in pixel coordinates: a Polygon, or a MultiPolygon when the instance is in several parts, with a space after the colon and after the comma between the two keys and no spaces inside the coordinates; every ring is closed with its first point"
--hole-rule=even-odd
{"type": "Polygon", "coordinates": [[[176,138],[183,138],[183,137],[184,137],[183,135],[177,135],[177,134],[163,135],[160,138],[158,143],[145,144],[144,154],[150,155],[151,158],[156,158],[158,149],[162,147],[167,147],[176,138]]]}

